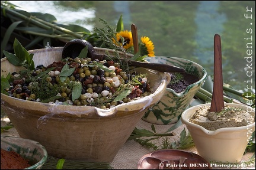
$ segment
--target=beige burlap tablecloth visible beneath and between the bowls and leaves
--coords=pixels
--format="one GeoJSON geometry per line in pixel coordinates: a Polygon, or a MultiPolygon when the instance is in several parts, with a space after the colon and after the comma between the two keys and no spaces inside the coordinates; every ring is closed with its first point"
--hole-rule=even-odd
{"type": "MultiPolygon", "coordinates": [[[[9,123],[9,119],[1,118],[1,126],[5,126],[9,123]]],[[[136,128],[139,129],[148,129],[151,130],[152,123],[145,122],[144,120],[140,120],[137,124],[136,128]]],[[[172,125],[154,125],[157,133],[164,133],[172,125]]],[[[185,128],[185,125],[181,125],[179,128],[175,129],[172,133],[174,136],[168,137],[170,142],[179,141],[180,133],[185,128]]],[[[185,128],[186,129],[186,128],[185,128]]],[[[187,130],[187,129],[186,129],[187,130]]],[[[188,132],[188,131],[187,131],[188,132]]],[[[19,136],[15,128],[11,128],[7,130],[7,132],[1,133],[1,136],[19,136]]],[[[160,142],[160,141],[159,141],[160,142]]],[[[195,147],[190,147],[188,149],[184,149],[184,151],[189,151],[193,153],[197,153],[195,147]]],[[[135,142],[134,140],[127,140],[124,143],[123,147],[117,153],[116,157],[114,158],[113,162],[111,162],[111,166],[113,169],[137,169],[137,164],[142,158],[143,155],[153,152],[151,149],[147,149],[144,146],[140,145],[139,143],[135,142]]],[[[248,152],[242,157],[242,161],[249,161],[249,158],[253,155],[252,152],[248,152]]],[[[254,158],[254,165],[251,166],[242,166],[242,167],[232,167],[232,168],[222,168],[222,167],[212,167],[212,169],[255,169],[255,158],[254,158]]]]}

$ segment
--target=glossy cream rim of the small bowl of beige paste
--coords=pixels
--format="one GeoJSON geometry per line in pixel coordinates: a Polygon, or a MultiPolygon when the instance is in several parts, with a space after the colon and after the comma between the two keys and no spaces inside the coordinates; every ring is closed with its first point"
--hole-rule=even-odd
{"type": "MultiPolygon", "coordinates": [[[[252,116],[254,116],[254,123],[252,123],[251,125],[247,125],[247,126],[240,126],[240,127],[234,127],[234,128],[220,128],[220,129],[216,129],[216,130],[207,130],[200,125],[197,125],[195,123],[191,123],[188,121],[187,117],[188,116],[191,117],[191,115],[193,114],[193,113],[189,113],[190,110],[196,109],[200,106],[210,106],[210,104],[211,103],[198,104],[196,106],[192,106],[192,107],[189,107],[188,109],[184,110],[184,112],[181,114],[181,122],[183,122],[183,124],[185,126],[190,126],[190,127],[196,128],[196,129],[200,129],[202,132],[206,133],[207,135],[216,135],[217,133],[222,133],[222,132],[236,132],[236,131],[244,130],[245,128],[251,129],[255,126],[255,109],[254,109],[254,112],[249,112],[252,116]]],[[[238,103],[224,103],[224,105],[240,107],[240,108],[249,107],[249,108],[253,109],[250,106],[247,106],[245,104],[238,104],[238,103]]]]}

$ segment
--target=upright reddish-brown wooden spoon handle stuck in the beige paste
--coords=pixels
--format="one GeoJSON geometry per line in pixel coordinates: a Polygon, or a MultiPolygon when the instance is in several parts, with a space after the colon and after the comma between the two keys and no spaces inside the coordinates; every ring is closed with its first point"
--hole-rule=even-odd
{"type": "Polygon", "coordinates": [[[214,70],[213,70],[213,95],[210,112],[220,112],[224,109],[223,77],[222,77],[222,51],[220,35],[214,37],[214,70]]]}

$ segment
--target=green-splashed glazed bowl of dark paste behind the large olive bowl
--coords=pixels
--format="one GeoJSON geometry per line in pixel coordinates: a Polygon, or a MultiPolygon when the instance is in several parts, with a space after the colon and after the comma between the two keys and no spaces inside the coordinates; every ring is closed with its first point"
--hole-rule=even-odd
{"type": "Polygon", "coordinates": [[[146,122],[159,125],[176,123],[178,117],[187,108],[188,104],[190,104],[191,100],[204,83],[204,80],[206,80],[206,70],[199,64],[184,58],[147,57],[146,60],[149,61],[149,63],[164,63],[184,68],[186,73],[199,78],[198,81],[190,84],[181,93],[176,93],[174,90],[166,88],[165,94],[162,96],[161,100],[150,107],[142,117],[146,122]]]}

